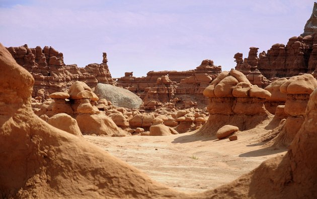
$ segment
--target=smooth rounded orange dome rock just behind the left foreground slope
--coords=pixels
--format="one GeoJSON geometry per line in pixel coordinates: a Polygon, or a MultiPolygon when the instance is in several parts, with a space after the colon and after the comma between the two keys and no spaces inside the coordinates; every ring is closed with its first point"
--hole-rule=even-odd
{"type": "Polygon", "coordinates": [[[47,119],[47,123],[52,126],[69,132],[69,134],[77,137],[83,137],[80,128],[78,127],[77,121],[66,113],[58,113],[47,119]]]}

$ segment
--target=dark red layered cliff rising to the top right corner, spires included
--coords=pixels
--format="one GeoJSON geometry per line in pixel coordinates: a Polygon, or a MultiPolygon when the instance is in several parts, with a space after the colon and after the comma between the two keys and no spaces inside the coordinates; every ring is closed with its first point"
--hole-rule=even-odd
{"type": "Polygon", "coordinates": [[[254,81],[248,77],[252,84],[264,88],[276,78],[289,78],[303,73],[317,77],[317,3],[314,3],[312,14],[308,19],[304,33],[300,36],[289,38],[286,45],[276,43],[267,51],[257,52],[259,48],[251,47],[248,58],[243,60],[242,53],[234,55],[235,69],[247,77],[250,73],[257,72],[254,81]],[[262,75],[260,75],[262,74],[262,75]],[[263,84],[263,86],[261,86],[263,84]]]}

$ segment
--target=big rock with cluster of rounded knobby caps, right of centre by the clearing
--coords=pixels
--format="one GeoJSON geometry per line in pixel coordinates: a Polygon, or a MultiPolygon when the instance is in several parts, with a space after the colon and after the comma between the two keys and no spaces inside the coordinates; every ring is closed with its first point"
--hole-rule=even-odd
{"type": "Polygon", "coordinates": [[[252,85],[243,73],[236,70],[220,73],[203,94],[210,99],[207,107],[210,116],[198,134],[215,135],[226,124],[240,130],[251,129],[269,114],[264,102],[271,93],[252,85]]]}

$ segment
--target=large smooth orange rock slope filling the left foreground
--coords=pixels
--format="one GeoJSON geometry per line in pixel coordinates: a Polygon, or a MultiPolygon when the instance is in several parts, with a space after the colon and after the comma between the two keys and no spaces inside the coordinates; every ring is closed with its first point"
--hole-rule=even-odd
{"type": "Polygon", "coordinates": [[[2,44],[0,68],[3,197],[188,197],[37,117],[31,109],[34,78],[2,44]]]}

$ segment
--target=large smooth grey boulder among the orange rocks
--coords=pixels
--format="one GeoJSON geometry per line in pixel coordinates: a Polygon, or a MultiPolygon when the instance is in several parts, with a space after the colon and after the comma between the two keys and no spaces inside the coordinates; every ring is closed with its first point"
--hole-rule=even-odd
{"type": "Polygon", "coordinates": [[[97,84],[94,93],[97,94],[99,99],[104,98],[118,107],[133,109],[139,108],[143,104],[142,99],[131,91],[109,84],[97,84]]]}

